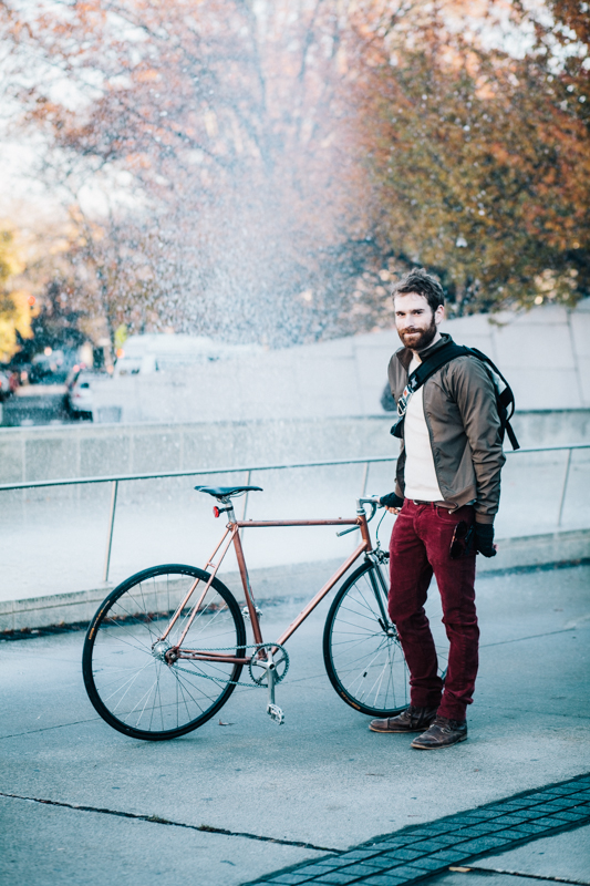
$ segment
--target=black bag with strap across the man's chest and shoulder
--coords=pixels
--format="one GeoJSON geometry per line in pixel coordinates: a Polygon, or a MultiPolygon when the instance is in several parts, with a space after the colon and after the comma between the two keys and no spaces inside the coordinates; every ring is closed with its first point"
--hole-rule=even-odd
{"type": "Polygon", "coordinates": [[[448,363],[449,360],[454,360],[456,357],[475,357],[477,360],[480,360],[483,363],[486,364],[487,371],[494,382],[494,390],[496,391],[496,406],[498,409],[498,415],[500,419],[500,440],[504,442],[505,434],[508,434],[508,440],[513,446],[513,450],[519,450],[520,444],[516,439],[516,434],[514,429],[510,424],[510,419],[515,414],[515,395],[513,393],[513,389],[499,371],[498,367],[486,357],[485,353],[478,351],[477,348],[467,348],[464,344],[455,344],[454,341],[448,341],[442,348],[438,348],[431,357],[427,357],[423,363],[417,367],[417,369],[412,372],[410,378],[407,379],[407,384],[404,388],[403,395],[400,398],[397,403],[397,414],[398,420],[395,422],[393,427],[391,429],[391,433],[393,436],[402,437],[403,436],[403,425],[405,419],[405,411],[407,409],[407,401],[410,396],[417,391],[418,388],[434,375],[434,373],[441,369],[445,363],[448,363]]]}

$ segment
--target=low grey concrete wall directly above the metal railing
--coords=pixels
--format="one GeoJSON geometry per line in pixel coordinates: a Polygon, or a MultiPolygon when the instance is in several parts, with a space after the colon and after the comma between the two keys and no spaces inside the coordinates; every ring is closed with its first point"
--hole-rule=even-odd
{"type": "MultiPolygon", "coordinates": [[[[379,415],[6,427],[0,483],[394,455],[391,424],[379,415]]],[[[521,412],[514,424],[522,446],[590,442],[590,409],[521,412]]]]}

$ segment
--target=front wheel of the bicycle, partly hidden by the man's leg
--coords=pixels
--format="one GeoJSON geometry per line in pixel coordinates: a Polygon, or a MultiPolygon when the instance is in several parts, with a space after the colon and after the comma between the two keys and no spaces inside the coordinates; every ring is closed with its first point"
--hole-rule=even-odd
{"type": "Polygon", "coordinates": [[[365,562],[335,595],[323,631],[330,682],[346,704],[372,717],[394,717],[410,704],[410,671],[386,614],[384,579],[365,562]]]}

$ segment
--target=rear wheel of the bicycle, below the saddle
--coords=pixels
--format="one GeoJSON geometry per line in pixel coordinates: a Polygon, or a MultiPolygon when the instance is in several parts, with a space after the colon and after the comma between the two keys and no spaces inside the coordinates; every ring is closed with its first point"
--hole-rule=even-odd
{"type": "MultiPolygon", "coordinates": [[[[89,626],[82,653],[84,686],[96,712],[125,735],[145,741],[184,735],[214,717],[235,689],[242,664],[180,659],[170,666],[153,651],[196,578],[206,583],[210,575],[182,564],[143,569],[106,597],[89,626]]],[[[193,606],[198,593],[199,586],[193,606]]],[[[170,631],[170,646],[190,611],[189,602],[170,631]]],[[[245,655],[240,608],[219,579],[214,578],[183,646],[245,655]]]]}

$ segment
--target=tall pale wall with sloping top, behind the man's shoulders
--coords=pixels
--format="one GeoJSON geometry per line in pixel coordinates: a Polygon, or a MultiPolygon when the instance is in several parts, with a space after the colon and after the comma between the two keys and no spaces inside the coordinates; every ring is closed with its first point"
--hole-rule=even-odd
{"type": "MultiPolygon", "coordinates": [[[[520,410],[590,408],[590,299],[576,310],[476,315],[443,323],[487,353],[520,410]]],[[[96,421],[211,421],[374,415],[395,330],[269,351],[93,387],[96,421]]]]}

